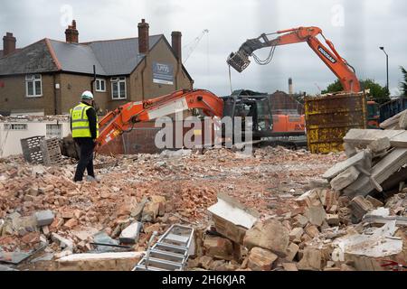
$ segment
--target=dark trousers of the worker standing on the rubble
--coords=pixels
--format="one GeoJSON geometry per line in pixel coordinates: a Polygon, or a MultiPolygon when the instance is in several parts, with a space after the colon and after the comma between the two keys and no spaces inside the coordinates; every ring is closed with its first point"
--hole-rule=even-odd
{"type": "Polygon", "coordinates": [[[74,181],[81,182],[85,169],[88,170],[89,176],[95,177],[95,172],[93,171],[93,149],[95,144],[90,137],[78,137],[75,138],[75,142],[80,146],[80,161],[76,168],[74,181]]]}

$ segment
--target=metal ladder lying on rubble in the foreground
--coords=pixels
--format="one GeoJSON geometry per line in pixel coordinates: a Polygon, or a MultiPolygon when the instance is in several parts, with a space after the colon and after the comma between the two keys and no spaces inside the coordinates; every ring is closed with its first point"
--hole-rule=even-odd
{"type": "Polygon", "coordinates": [[[182,271],[194,239],[194,228],[173,225],[150,247],[156,235],[154,232],[148,242],[146,255],[132,271],[182,271]]]}

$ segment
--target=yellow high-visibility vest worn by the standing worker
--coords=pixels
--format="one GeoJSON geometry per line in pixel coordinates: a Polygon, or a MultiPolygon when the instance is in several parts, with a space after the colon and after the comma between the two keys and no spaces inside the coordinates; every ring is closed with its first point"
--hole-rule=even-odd
{"type": "MultiPolygon", "coordinates": [[[[91,137],[89,119],[86,111],[91,107],[80,103],[71,109],[72,137],[91,137]]],[[[96,137],[99,137],[99,120],[96,116],[96,137]]]]}

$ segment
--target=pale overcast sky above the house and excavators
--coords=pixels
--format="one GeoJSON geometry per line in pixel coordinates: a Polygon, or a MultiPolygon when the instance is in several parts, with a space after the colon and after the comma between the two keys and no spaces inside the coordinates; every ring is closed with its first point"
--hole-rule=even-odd
{"type": "MultiPolygon", "coordinates": [[[[0,33],[14,33],[24,47],[45,37],[64,40],[65,25],[76,19],[80,42],[137,37],[137,23],[146,18],[150,34],[181,31],[186,45],[204,29],[185,67],[195,88],[218,95],[230,93],[226,58],[242,42],[261,33],[298,26],[319,26],[336,50],[355,69],[359,79],[385,85],[384,46],[390,57],[390,88],[398,94],[399,66],[407,68],[407,1],[404,0],[3,0],[0,33]]],[[[185,52],[188,47],[185,47],[185,52]]],[[[268,49],[257,52],[267,57],[268,49]]],[[[232,70],[233,89],[264,92],[288,90],[316,94],[336,77],[306,43],[280,46],[273,61],[260,66],[252,61],[241,74],[232,70]]]]}

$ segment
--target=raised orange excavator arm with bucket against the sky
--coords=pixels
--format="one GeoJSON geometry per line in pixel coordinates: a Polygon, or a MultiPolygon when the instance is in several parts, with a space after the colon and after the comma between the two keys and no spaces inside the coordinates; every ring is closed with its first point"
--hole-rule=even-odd
{"type": "Polygon", "coordinates": [[[324,61],[327,67],[334,72],[336,77],[342,83],[345,91],[359,92],[360,83],[355,75],[355,69],[350,66],[345,59],[343,59],[336,51],[332,42],[327,40],[318,27],[298,27],[288,30],[278,31],[272,34],[282,34],[281,36],[270,40],[268,35],[261,34],[259,38],[250,39],[241,45],[241,48],[236,53],[232,53],[227,62],[233,69],[241,72],[245,70],[251,61],[250,56],[253,52],[262,48],[271,47],[275,48],[279,45],[286,45],[298,42],[307,42],[309,47],[317,54],[317,56],[324,61]],[[317,35],[321,34],[327,42],[324,45],[317,39],[317,35]]]}

